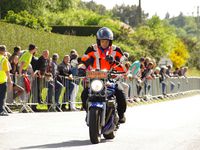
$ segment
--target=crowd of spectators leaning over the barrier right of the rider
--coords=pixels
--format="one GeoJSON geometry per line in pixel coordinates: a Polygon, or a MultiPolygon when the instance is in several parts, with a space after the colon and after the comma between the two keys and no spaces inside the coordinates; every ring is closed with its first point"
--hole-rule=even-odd
{"type": "MultiPolygon", "coordinates": [[[[148,81],[159,78],[161,85],[162,95],[167,97],[166,94],[166,80],[175,77],[186,77],[187,67],[176,68],[173,70],[172,64],[157,65],[155,59],[149,57],[142,57],[139,60],[134,61],[129,68],[129,79],[136,80],[137,96],[134,100],[145,99],[144,96],[149,94],[151,84],[148,81]],[[144,89],[144,93],[141,94],[141,90],[144,89]],[[141,97],[143,95],[143,97],[141,97]]],[[[172,92],[175,84],[170,81],[170,91],[172,92]]]]}

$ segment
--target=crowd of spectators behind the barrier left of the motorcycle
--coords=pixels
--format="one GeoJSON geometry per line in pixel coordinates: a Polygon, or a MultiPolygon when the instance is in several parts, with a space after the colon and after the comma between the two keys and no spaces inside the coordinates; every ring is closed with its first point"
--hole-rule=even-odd
{"type": "MultiPolygon", "coordinates": [[[[80,62],[77,51],[72,49],[69,55],[63,57],[61,63],[58,63],[59,54],[54,53],[50,57],[49,50],[43,50],[41,55],[37,55],[39,57],[36,57],[36,54],[37,47],[34,44],[30,44],[27,50],[16,46],[13,54],[5,53],[10,62],[13,102],[16,99],[27,101],[25,95],[29,94],[29,99],[34,97],[32,101],[35,103],[46,103],[48,109],[55,103],[57,111],[76,111],[79,81],[75,81],[74,77],[77,76],[80,62]],[[65,91],[63,97],[62,90],[65,91]]],[[[36,105],[31,107],[33,111],[39,111],[36,105]]]]}

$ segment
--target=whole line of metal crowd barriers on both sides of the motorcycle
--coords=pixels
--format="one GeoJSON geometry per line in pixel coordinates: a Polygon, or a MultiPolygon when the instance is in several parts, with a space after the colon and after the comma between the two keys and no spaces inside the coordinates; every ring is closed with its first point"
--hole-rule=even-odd
{"type": "MultiPolygon", "coordinates": [[[[13,99],[13,91],[7,92],[6,108],[9,110],[9,106],[19,105],[21,106],[20,112],[27,111],[33,112],[31,107],[37,104],[46,104],[48,111],[62,111],[62,105],[68,105],[72,110],[77,103],[77,94],[81,92],[79,86],[81,86],[80,78],[69,80],[67,77],[60,76],[60,80],[52,79],[51,77],[30,77],[31,92],[24,92],[17,99],[13,99]]],[[[16,83],[23,88],[24,77],[16,77],[16,83]]],[[[150,95],[151,97],[159,97],[168,94],[178,94],[181,92],[200,90],[200,78],[198,77],[177,77],[167,78],[165,81],[160,82],[159,78],[153,80],[146,80],[143,83],[138,83],[136,80],[123,81],[129,86],[129,97],[143,97],[150,95]],[[141,88],[138,92],[138,87],[141,88]]],[[[82,84],[85,84],[82,82],[82,84]]],[[[83,86],[83,85],[82,85],[83,86]]]]}

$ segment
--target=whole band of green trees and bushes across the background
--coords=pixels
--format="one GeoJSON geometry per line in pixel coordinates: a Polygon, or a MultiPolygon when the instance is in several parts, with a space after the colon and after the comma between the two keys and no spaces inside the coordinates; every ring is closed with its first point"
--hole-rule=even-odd
{"type": "Polygon", "coordinates": [[[39,30],[49,31],[48,25],[107,26],[114,32],[114,42],[135,58],[150,56],[158,61],[171,53],[181,39],[191,55],[187,65],[200,68],[197,17],[180,13],[170,18],[167,13],[164,20],[158,16],[147,20],[148,14],[142,11],[143,24],[138,25],[136,5],[122,4],[106,10],[105,6],[94,1],[81,0],[0,0],[0,7],[2,17],[13,10],[8,17],[10,22],[39,30]],[[134,32],[123,22],[135,27],[134,32]]]}

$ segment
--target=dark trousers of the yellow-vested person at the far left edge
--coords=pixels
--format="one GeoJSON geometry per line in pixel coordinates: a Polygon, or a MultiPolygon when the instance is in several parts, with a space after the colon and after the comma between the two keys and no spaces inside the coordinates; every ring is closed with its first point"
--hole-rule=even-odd
{"type": "Polygon", "coordinates": [[[7,91],[6,82],[0,84],[0,89],[1,89],[1,92],[0,92],[0,112],[2,112],[2,111],[4,111],[4,101],[5,101],[5,98],[6,98],[6,91],[7,91]]]}

